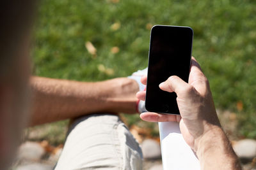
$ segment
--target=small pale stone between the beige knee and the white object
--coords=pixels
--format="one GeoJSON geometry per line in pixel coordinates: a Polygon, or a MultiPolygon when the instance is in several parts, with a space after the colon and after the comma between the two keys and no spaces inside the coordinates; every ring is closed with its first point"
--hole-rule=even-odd
{"type": "Polygon", "coordinates": [[[161,158],[161,148],[159,143],[152,139],[145,139],[141,143],[141,150],[144,159],[159,159],[161,158]]]}

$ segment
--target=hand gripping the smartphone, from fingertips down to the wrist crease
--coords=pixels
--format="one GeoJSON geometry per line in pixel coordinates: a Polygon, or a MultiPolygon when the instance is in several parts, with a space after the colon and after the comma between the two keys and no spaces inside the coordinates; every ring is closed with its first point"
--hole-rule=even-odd
{"type": "MultiPolygon", "coordinates": [[[[141,80],[145,83],[147,78],[143,77],[141,80]]],[[[149,122],[180,122],[180,131],[185,141],[196,152],[200,138],[208,131],[220,128],[220,122],[216,115],[209,82],[195,58],[193,57],[191,63],[189,83],[178,76],[170,76],[159,85],[159,88],[177,94],[181,118],[178,115],[157,113],[141,113],[141,118],[149,122]]],[[[138,92],[137,97],[145,100],[145,92],[138,92]]]]}

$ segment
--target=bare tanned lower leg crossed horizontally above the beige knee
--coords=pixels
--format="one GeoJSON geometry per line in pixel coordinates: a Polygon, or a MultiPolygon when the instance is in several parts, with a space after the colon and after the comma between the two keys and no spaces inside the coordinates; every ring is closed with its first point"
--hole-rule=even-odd
{"type": "Polygon", "coordinates": [[[129,78],[79,82],[31,77],[30,125],[44,124],[90,113],[135,113],[138,84],[129,78]]]}

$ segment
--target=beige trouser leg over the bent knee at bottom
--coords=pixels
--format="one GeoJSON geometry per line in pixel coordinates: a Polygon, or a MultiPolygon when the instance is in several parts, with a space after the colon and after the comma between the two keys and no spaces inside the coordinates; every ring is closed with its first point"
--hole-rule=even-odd
{"type": "Polygon", "coordinates": [[[116,115],[76,120],[55,169],[142,169],[136,139],[116,115]]]}

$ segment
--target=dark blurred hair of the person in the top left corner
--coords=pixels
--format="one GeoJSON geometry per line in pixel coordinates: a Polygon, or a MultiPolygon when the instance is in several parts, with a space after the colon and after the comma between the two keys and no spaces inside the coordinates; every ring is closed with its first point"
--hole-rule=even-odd
{"type": "Polygon", "coordinates": [[[35,0],[0,2],[0,76],[12,72],[17,49],[29,35],[35,12],[35,0]]]}

